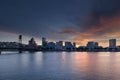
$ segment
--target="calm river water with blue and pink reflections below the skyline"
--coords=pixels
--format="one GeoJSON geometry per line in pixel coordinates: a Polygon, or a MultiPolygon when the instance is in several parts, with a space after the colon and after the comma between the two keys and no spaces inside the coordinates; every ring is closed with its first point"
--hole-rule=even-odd
{"type": "Polygon", "coordinates": [[[120,53],[4,53],[0,80],[120,80],[120,53]]]}

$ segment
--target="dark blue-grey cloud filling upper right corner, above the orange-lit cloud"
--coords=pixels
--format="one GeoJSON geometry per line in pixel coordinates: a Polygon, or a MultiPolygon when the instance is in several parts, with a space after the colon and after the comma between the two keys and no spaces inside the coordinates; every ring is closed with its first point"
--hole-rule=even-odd
{"type": "Polygon", "coordinates": [[[103,25],[101,18],[112,18],[120,12],[120,0],[94,0],[93,9],[90,14],[80,21],[83,27],[99,27],[103,25]]]}

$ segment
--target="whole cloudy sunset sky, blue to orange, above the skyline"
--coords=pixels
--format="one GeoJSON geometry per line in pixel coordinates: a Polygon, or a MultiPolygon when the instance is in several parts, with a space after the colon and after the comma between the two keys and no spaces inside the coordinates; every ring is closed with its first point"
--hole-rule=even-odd
{"type": "Polygon", "coordinates": [[[0,0],[0,41],[23,43],[34,37],[85,46],[97,41],[120,45],[120,0],[0,0]]]}

